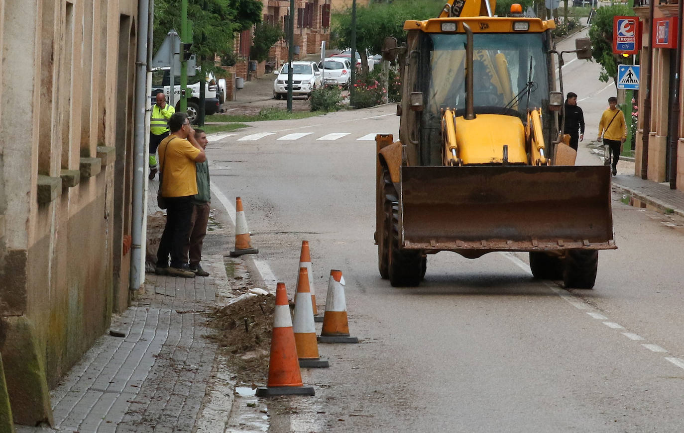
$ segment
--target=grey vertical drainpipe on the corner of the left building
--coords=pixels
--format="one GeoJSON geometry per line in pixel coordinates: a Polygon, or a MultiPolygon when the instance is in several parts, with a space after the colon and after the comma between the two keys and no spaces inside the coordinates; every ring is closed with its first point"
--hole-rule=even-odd
{"type": "Polygon", "coordinates": [[[140,1],[137,10],[137,59],[135,61],[135,115],[133,126],[133,206],[131,210],[131,273],[129,290],[140,290],[144,283],[145,270],[142,264],[145,242],[142,230],[145,224],[146,210],[144,204],[145,189],[145,118],[147,117],[147,101],[150,91],[147,89],[148,58],[148,10],[153,0],[140,1]]]}

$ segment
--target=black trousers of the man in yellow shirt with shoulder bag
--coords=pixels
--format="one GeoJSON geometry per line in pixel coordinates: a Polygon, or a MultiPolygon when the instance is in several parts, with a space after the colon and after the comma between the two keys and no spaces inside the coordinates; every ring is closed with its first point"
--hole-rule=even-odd
{"type": "Polygon", "coordinates": [[[187,197],[166,197],[166,226],[161,234],[157,250],[157,268],[166,268],[171,255],[171,267],[182,268],[187,263],[185,242],[192,219],[192,195],[187,197]]]}

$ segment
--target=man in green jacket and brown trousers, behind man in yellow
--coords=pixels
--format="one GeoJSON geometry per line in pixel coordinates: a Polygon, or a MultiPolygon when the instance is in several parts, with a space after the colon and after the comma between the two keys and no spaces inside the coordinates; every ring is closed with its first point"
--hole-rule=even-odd
{"type": "MultiPolygon", "coordinates": [[[[209,140],[207,132],[196,129],[195,140],[202,150],[206,150],[209,140]]],[[[208,277],[209,273],[202,269],[202,243],[207,234],[207,223],[209,222],[209,205],[211,204],[211,188],[209,187],[209,161],[195,163],[197,170],[197,194],[192,197],[194,204],[192,210],[192,220],[190,221],[189,239],[185,245],[186,257],[189,256],[189,269],[198,277],[208,277]]]]}

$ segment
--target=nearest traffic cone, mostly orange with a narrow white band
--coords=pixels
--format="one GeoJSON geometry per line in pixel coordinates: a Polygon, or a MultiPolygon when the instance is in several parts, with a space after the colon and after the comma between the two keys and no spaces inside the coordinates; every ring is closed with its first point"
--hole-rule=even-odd
{"type": "Polygon", "coordinates": [[[266,387],[257,388],[257,395],[315,395],[313,387],[304,387],[302,383],[285,283],[278,283],[276,286],[276,311],[273,319],[271,358],[268,362],[268,382],[266,387]]]}

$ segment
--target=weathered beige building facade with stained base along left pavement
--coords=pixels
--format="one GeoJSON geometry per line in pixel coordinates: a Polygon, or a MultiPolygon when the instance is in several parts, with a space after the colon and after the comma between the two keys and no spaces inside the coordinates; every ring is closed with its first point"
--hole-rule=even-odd
{"type": "Polygon", "coordinates": [[[137,4],[0,1],[0,367],[16,423],[51,422],[47,390],[128,307],[137,4]]]}

